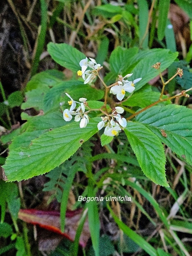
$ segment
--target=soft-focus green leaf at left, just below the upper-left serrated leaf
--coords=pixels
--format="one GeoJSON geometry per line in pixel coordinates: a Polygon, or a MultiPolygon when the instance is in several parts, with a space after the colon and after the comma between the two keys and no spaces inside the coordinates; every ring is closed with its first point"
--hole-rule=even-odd
{"type": "Polygon", "coordinates": [[[32,76],[31,80],[26,85],[26,91],[41,87],[52,87],[59,84],[64,79],[65,75],[61,71],[55,69],[46,70],[32,76]]]}

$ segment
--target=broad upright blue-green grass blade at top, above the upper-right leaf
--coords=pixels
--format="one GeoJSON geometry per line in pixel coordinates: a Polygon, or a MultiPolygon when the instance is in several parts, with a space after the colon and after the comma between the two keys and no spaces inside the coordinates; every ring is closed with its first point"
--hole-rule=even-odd
{"type": "MultiPolygon", "coordinates": [[[[139,42],[141,43],[141,40],[147,28],[148,18],[146,19],[146,17],[148,17],[148,3],[146,0],[138,0],[138,5],[139,5],[139,42]]],[[[142,46],[143,48],[148,47],[148,33],[147,33],[147,36],[145,37],[145,40],[143,41],[142,46]]]]}

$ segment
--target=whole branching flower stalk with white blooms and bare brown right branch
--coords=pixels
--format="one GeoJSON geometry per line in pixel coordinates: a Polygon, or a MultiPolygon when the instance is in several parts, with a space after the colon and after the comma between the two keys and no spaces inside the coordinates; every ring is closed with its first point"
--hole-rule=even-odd
{"type": "Polygon", "coordinates": [[[99,77],[99,79],[101,80],[102,84],[105,87],[104,105],[98,109],[91,109],[87,103],[86,98],[80,98],[79,102],[78,102],[78,101],[73,100],[71,98],[71,96],[68,93],[66,93],[66,95],[70,99],[68,101],[70,109],[64,110],[63,118],[65,121],[68,122],[68,121],[71,121],[72,116],[75,116],[74,120],[76,122],[80,121],[80,124],[79,124],[80,128],[84,128],[89,123],[88,113],[90,111],[101,111],[104,114],[104,116],[101,116],[102,120],[98,123],[97,127],[98,127],[98,130],[101,130],[105,126],[104,134],[106,136],[112,137],[112,136],[118,135],[119,132],[124,130],[124,128],[127,126],[127,120],[130,120],[132,117],[134,117],[134,116],[138,115],[139,113],[143,112],[144,110],[158,104],[159,102],[173,99],[173,98],[178,98],[181,96],[188,97],[188,94],[186,94],[186,92],[191,90],[191,88],[190,88],[186,91],[182,91],[181,93],[179,93],[175,96],[172,96],[172,97],[169,97],[166,99],[162,99],[165,85],[168,84],[175,76],[179,75],[181,77],[183,74],[183,71],[182,71],[182,69],[178,68],[176,74],[174,76],[172,76],[172,78],[170,78],[167,82],[164,82],[163,77],[160,72],[160,64],[161,63],[157,62],[156,64],[153,65],[153,68],[159,70],[159,75],[160,75],[160,78],[163,83],[163,88],[162,88],[162,92],[161,92],[159,100],[157,100],[156,102],[147,106],[146,108],[143,108],[140,111],[134,113],[132,116],[128,117],[126,120],[124,117],[121,116],[121,114],[123,114],[123,112],[124,112],[123,107],[118,106],[118,107],[112,108],[111,114],[108,113],[108,109],[107,109],[108,91],[110,89],[109,93],[116,95],[117,100],[120,100],[120,102],[118,102],[118,105],[119,105],[119,104],[121,104],[121,102],[124,101],[123,99],[124,99],[125,93],[126,92],[132,93],[135,90],[135,84],[137,82],[139,82],[142,78],[140,77],[140,78],[134,79],[133,81],[128,81],[127,78],[132,76],[132,74],[127,74],[124,77],[119,75],[118,81],[116,83],[107,86],[99,75],[99,71],[103,67],[100,64],[97,64],[97,62],[94,59],[92,59],[92,58],[89,58],[89,59],[90,60],[88,60],[88,58],[85,58],[79,62],[81,70],[77,71],[77,75],[82,76],[82,78],[84,80],[84,84],[91,84],[92,81],[96,78],[96,76],[99,77]],[[88,67],[90,69],[87,69],[88,67]],[[79,106],[75,110],[76,104],[79,104],[79,106]],[[85,111],[85,107],[88,108],[87,111],[85,111]]]}

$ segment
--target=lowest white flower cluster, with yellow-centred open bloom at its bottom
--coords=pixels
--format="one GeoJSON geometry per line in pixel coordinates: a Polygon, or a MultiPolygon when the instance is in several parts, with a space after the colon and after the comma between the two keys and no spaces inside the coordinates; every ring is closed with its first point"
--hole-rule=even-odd
{"type": "Polygon", "coordinates": [[[124,108],[122,107],[116,107],[111,115],[108,116],[101,116],[102,121],[100,121],[97,125],[98,130],[101,130],[105,124],[107,123],[107,126],[105,127],[104,134],[106,136],[115,136],[118,135],[119,132],[122,130],[121,127],[125,128],[127,126],[127,121],[123,117],[121,117],[120,114],[124,112],[124,108]],[[116,121],[114,120],[116,119],[116,121]]]}

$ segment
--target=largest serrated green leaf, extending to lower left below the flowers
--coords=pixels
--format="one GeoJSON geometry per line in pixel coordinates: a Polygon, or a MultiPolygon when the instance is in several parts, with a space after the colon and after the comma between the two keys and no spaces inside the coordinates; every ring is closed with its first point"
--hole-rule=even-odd
{"type": "Polygon", "coordinates": [[[99,121],[98,117],[92,118],[82,129],[79,128],[79,123],[73,122],[45,132],[39,138],[32,140],[29,148],[11,150],[3,165],[7,179],[26,180],[59,166],[98,131],[99,121]]]}

